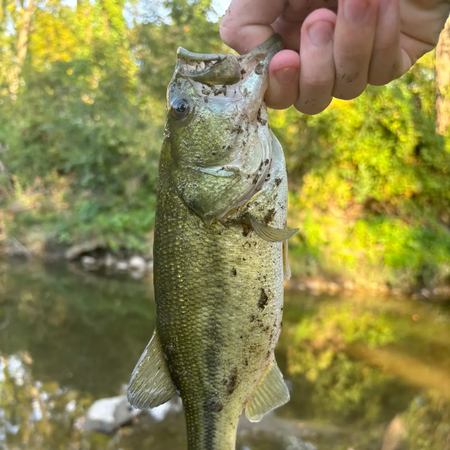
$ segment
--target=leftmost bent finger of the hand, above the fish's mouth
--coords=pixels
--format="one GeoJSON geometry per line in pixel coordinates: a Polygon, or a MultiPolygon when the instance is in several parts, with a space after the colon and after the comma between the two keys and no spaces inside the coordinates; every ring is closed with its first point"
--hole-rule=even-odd
{"type": "Polygon", "coordinates": [[[232,0],[220,23],[220,37],[239,54],[248,53],[275,31],[270,26],[283,12],[285,0],[232,0]]]}

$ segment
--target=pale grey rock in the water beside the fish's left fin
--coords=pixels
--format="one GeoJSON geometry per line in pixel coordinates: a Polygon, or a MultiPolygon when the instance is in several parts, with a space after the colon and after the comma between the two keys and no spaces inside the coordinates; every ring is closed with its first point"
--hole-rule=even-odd
{"type": "Polygon", "coordinates": [[[136,410],[131,406],[124,395],[102,398],[90,406],[85,415],[83,428],[109,434],[141,413],[142,410],[136,410]]]}

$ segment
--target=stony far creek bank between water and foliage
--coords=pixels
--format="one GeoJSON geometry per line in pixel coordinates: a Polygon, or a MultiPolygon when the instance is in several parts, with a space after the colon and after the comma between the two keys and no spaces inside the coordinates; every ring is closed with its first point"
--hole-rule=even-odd
{"type": "MultiPolygon", "coordinates": [[[[301,238],[300,238],[301,239],[301,238]]],[[[59,261],[71,270],[107,277],[130,277],[152,279],[153,277],[153,232],[137,251],[129,248],[112,249],[101,238],[78,242],[60,242],[54,233],[44,232],[38,227],[22,232],[20,237],[3,235],[0,239],[0,258],[3,260],[59,261]]],[[[365,277],[355,278],[343,273],[330,273],[315,265],[311,270],[311,255],[291,246],[290,264],[293,276],[285,281],[285,288],[305,291],[312,295],[330,296],[377,295],[380,297],[410,298],[423,302],[447,302],[450,300],[450,282],[437,284],[374,281],[383,279],[383,268],[374,274],[374,269],[365,277]]]]}

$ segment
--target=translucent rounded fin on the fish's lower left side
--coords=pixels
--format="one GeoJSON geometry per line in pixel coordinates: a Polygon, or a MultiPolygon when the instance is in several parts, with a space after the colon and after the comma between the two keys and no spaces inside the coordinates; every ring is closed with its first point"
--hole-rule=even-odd
{"type": "Polygon", "coordinates": [[[162,405],[176,395],[156,330],[131,374],[126,395],[140,410],[162,405]]]}

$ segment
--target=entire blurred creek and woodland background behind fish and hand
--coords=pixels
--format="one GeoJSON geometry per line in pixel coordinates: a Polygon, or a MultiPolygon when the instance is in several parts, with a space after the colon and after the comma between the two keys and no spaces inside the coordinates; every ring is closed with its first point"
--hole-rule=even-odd
{"type": "MultiPolygon", "coordinates": [[[[229,52],[228,3],[0,4],[1,449],[186,448],[177,401],[136,416],[121,396],[155,324],[176,49],[229,52]]],[[[292,400],[237,449],[450,450],[450,26],[400,80],[269,120],[300,227],[292,400]]]]}

